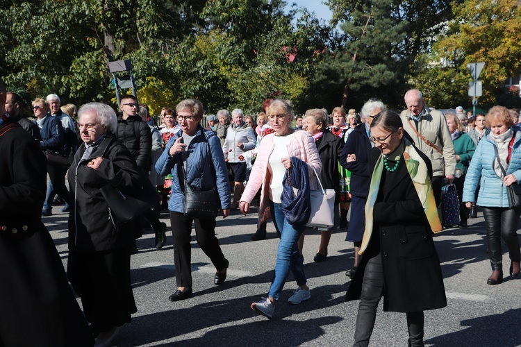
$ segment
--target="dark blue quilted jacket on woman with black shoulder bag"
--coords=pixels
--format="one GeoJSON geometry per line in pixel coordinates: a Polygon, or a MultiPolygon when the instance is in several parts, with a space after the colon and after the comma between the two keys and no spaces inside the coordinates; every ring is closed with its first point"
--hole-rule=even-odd
{"type": "MultiPolygon", "coordinates": [[[[183,130],[180,129],[168,140],[165,151],[163,151],[163,154],[161,154],[156,162],[156,171],[158,171],[158,174],[161,176],[172,174],[173,177],[172,194],[168,201],[168,210],[180,213],[183,213],[184,201],[177,171],[178,164],[181,163],[181,153],[169,155],[168,151],[176,139],[181,137],[182,131],[183,130]]],[[[217,133],[204,130],[199,126],[194,139],[192,139],[190,145],[185,148],[185,151],[188,151],[186,161],[186,180],[188,183],[200,188],[211,188],[216,185],[221,200],[221,208],[223,210],[229,209],[230,183],[228,180],[228,170],[226,169],[224,153],[222,153],[221,142],[219,137],[217,137],[217,133]],[[208,152],[208,144],[210,144],[210,153],[208,152]]],[[[179,170],[182,172],[183,168],[180,167],[179,170]]]]}

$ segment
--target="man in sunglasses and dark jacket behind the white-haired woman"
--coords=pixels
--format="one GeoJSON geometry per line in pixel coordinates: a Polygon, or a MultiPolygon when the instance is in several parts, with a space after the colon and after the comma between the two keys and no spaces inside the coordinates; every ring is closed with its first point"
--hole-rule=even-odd
{"type": "MultiPolygon", "coordinates": [[[[147,122],[142,121],[138,114],[138,100],[133,95],[124,95],[119,103],[119,109],[122,110],[122,115],[117,117],[117,139],[129,149],[138,167],[148,176],[152,166],[152,134],[147,122]]],[[[156,232],[156,248],[162,248],[166,242],[166,224],[159,221],[152,210],[144,212],[144,217],[156,232]]],[[[134,236],[139,238],[141,235],[134,236]]],[[[134,253],[137,251],[137,248],[133,249],[134,253]]]]}

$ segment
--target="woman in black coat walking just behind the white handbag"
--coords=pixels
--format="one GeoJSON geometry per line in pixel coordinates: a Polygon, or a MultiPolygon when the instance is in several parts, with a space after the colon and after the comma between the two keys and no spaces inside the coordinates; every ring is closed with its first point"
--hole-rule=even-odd
{"type": "MultiPolygon", "coordinates": [[[[303,128],[313,135],[315,145],[318,149],[318,155],[322,162],[322,171],[320,171],[319,179],[324,189],[335,189],[335,225],[340,225],[340,174],[338,172],[338,156],[344,148],[344,141],[331,133],[326,128],[327,112],[324,109],[314,108],[306,111],[306,117],[302,121],[303,128]]],[[[313,257],[315,262],[322,262],[327,257],[327,246],[331,239],[332,229],[320,229],[320,245],[317,254],[313,257]]],[[[304,236],[299,239],[299,251],[302,253],[304,246],[304,236]]]]}

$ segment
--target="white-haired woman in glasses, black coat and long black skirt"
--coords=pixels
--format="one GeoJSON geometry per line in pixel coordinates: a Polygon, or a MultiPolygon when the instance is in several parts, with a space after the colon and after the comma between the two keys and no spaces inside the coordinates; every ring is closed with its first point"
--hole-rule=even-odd
{"type": "Polygon", "coordinates": [[[122,193],[140,187],[140,174],[128,149],[117,140],[117,118],[104,103],[78,110],[83,145],[69,169],[74,203],[69,215],[69,280],[99,344],[110,344],[120,325],[137,312],[132,294],[130,256],[135,223],[117,224],[101,194],[113,185],[122,193]]]}

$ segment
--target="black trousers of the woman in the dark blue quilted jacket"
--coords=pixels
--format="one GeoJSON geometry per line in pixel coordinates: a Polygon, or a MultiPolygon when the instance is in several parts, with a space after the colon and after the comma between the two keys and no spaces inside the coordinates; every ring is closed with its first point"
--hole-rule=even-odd
{"type": "Polygon", "coordinates": [[[170,212],[170,225],[174,237],[174,262],[177,287],[192,287],[192,221],[195,222],[197,244],[201,247],[217,271],[226,267],[219,240],[215,237],[215,219],[193,219],[179,212],[170,212]]]}

